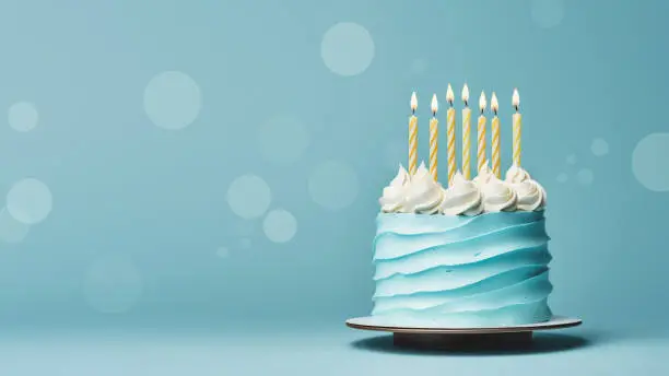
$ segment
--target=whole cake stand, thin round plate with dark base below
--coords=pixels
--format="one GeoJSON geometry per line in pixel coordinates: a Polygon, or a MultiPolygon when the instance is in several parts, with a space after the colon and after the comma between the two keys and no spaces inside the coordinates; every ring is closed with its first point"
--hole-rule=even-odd
{"type": "Polygon", "coordinates": [[[347,320],[353,329],[386,331],[392,333],[396,346],[418,349],[459,349],[526,346],[532,342],[532,333],[540,330],[564,329],[579,326],[578,318],[553,316],[544,322],[491,328],[442,328],[430,325],[416,326],[401,322],[379,321],[374,316],[347,320]]]}

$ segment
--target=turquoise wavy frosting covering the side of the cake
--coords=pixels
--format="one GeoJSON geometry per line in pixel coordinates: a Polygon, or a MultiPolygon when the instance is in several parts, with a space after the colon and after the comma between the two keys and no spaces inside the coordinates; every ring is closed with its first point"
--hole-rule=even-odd
{"type": "MultiPolygon", "coordinates": [[[[468,189],[460,191],[468,195],[463,201],[477,201],[468,189]]],[[[445,327],[547,321],[553,289],[548,242],[542,211],[476,216],[380,213],[372,315],[445,327]]]]}

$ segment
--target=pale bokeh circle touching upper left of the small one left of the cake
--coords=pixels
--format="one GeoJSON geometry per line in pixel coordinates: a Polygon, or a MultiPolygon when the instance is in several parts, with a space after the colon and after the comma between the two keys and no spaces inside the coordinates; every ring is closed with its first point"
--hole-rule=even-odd
{"type": "Polygon", "coordinates": [[[257,175],[239,176],[233,180],[227,189],[230,209],[246,220],[265,214],[271,200],[272,195],[269,186],[257,175]]]}

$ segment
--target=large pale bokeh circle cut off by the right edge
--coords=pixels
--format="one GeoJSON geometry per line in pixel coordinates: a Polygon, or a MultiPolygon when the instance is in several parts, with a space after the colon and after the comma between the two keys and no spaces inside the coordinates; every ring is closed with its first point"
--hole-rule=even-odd
{"type": "Polygon", "coordinates": [[[669,191],[669,133],[643,138],[632,152],[632,173],[638,183],[656,192],[669,191]]]}

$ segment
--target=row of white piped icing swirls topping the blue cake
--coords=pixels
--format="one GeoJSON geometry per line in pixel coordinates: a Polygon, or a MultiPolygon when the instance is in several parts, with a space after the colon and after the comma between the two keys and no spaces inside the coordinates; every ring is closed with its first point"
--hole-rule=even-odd
{"type": "Polygon", "coordinates": [[[512,166],[504,180],[484,166],[473,180],[458,172],[445,189],[424,164],[411,176],[400,165],[397,176],[379,199],[385,213],[418,213],[474,216],[490,212],[541,211],[545,208],[543,187],[521,167],[512,166]]]}

